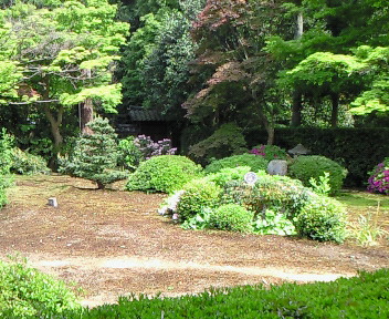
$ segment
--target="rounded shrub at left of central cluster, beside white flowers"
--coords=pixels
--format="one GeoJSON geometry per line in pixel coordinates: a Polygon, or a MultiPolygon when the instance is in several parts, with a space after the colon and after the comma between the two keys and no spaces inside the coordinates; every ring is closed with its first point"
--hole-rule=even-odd
{"type": "Polygon", "coordinates": [[[183,194],[177,204],[177,213],[181,222],[200,214],[206,207],[215,207],[220,200],[221,188],[204,178],[189,182],[182,191],[183,194]]]}

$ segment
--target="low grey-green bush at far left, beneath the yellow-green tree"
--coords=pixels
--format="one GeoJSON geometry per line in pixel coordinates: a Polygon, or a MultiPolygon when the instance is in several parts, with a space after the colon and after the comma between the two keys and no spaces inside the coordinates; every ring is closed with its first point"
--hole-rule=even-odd
{"type": "Polygon", "coordinates": [[[12,148],[11,172],[21,175],[49,174],[46,161],[42,156],[23,152],[19,147],[12,148]]]}

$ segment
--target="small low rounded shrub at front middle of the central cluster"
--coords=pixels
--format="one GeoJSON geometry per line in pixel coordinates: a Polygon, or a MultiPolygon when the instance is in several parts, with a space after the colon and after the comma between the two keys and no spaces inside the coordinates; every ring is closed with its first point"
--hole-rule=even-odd
{"type": "Polygon", "coordinates": [[[222,230],[250,233],[253,230],[253,212],[238,204],[227,204],[211,212],[209,225],[222,230]]]}

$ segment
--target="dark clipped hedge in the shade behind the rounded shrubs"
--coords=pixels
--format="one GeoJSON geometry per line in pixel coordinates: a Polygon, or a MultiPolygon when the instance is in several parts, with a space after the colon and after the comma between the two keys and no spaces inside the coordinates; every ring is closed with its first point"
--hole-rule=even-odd
{"type": "MultiPolygon", "coordinates": [[[[250,146],[265,143],[264,131],[246,132],[250,146]]],[[[367,186],[370,172],[389,156],[389,128],[283,127],[275,130],[274,144],[291,150],[298,143],[311,154],[332,158],[348,169],[345,186],[367,186]]]]}

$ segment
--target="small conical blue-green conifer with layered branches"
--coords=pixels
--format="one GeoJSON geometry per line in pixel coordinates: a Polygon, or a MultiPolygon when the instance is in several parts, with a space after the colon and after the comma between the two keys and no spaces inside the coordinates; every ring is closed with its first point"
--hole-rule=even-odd
{"type": "Polygon", "coordinates": [[[118,158],[116,134],[108,120],[96,117],[87,124],[93,134],[83,134],[69,160],[61,160],[60,172],[96,182],[98,189],[125,179],[128,174],[115,171],[118,158]]]}

